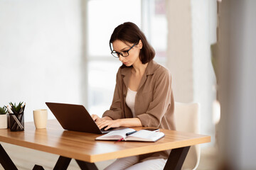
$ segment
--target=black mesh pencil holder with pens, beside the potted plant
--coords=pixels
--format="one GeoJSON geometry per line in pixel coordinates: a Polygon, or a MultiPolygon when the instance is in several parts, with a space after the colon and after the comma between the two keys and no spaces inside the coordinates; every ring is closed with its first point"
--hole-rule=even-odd
{"type": "Polygon", "coordinates": [[[9,128],[11,131],[24,130],[24,113],[9,113],[9,128]]]}

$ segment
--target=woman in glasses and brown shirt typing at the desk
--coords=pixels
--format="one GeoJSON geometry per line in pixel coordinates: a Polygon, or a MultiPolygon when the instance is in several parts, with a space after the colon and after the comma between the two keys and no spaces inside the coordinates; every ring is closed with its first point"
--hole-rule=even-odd
{"type": "MultiPolygon", "coordinates": [[[[154,62],[154,49],[134,23],[114,29],[110,50],[122,66],[117,72],[110,110],[92,115],[100,129],[155,127],[175,130],[174,96],[168,69],[154,62]]],[[[163,169],[169,152],[117,159],[107,169],[163,169]]]]}

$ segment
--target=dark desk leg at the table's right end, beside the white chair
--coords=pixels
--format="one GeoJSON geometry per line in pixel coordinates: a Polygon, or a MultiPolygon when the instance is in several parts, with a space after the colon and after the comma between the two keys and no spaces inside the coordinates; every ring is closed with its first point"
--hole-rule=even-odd
{"type": "Polygon", "coordinates": [[[172,149],[164,170],[180,170],[190,147],[172,149]]]}

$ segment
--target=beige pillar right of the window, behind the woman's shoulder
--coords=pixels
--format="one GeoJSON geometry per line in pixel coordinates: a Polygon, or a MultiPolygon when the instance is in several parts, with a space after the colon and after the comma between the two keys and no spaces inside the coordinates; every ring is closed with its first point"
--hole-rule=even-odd
{"type": "Polygon", "coordinates": [[[191,0],[166,0],[168,21],[167,64],[172,76],[174,100],[193,101],[193,49],[191,0]]]}

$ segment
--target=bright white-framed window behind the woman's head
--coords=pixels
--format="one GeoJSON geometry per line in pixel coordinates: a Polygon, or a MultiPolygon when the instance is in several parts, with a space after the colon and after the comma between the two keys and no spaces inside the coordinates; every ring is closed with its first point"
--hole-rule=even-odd
{"type": "Polygon", "coordinates": [[[112,31],[121,23],[136,23],[156,50],[155,60],[164,64],[167,40],[164,0],[90,0],[87,3],[87,106],[90,113],[102,116],[112,103],[116,73],[121,66],[110,54],[112,31]]]}

